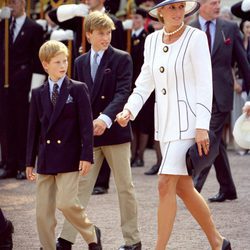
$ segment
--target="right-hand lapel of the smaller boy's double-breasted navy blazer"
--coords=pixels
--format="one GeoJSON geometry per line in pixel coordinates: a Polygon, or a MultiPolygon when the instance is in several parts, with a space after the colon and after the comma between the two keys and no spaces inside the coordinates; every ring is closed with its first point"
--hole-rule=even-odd
{"type": "Polygon", "coordinates": [[[69,78],[66,76],[63,83],[62,83],[59,97],[58,97],[58,100],[56,102],[56,106],[54,107],[53,113],[51,115],[48,130],[56,122],[57,118],[59,117],[60,113],[62,112],[62,109],[67,101],[68,96],[69,96],[69,89],[68,89],[69,84],[70,84],[69,78]]]}

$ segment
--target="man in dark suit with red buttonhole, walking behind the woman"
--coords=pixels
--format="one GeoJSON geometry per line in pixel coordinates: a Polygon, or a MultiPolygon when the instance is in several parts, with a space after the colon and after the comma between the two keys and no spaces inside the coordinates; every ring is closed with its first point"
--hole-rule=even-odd
{"type": "MultiPolygon", "coordinates": [[[[198,19],[191,25],[205,31],[208,36],[213,71],[213,109],[210,130],[215,132],[219,147],[214,167],[220,189],[218,194],[209,198],[209,201],[223,202],[237,199],[225,143],[222,140],[223,127],[233,107],[232,65],[236,60],[244,79],[248,82],[250,69],[237,24],[218,18],[220,1],[201,0],[200,3],[198,19]]],[[[198,191],[201,191],[210,168],[211,166],[194,177],[195,188],[198,191]]]]}

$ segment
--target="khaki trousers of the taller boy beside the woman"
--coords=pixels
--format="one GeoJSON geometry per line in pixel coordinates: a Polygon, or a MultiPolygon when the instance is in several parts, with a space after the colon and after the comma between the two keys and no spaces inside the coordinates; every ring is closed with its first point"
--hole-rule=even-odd
{"type": "MultiPolygon", "coordinates": [[[[118,193],[121,229],[126,245],[140,241],[137,223],[137,202],[130,168],[130,143],[94,148],[94,165],[87,176],[79,181],[79,199],[86,207],[93,191],[104,157],[114,176],[118,193]]],[[[101,205],[100,205],[100,209],[101,205]]],[[[60,237],[75,242],[77,231],[65,221],[60,237]]]]}

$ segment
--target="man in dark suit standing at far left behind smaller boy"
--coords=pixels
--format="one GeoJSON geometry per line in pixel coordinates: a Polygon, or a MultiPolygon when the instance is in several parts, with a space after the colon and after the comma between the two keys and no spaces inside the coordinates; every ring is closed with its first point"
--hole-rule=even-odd
{"type": "MultiPolygon", "coordinates": [[[[25,0],[11,0],[9,48],[4,48],[6,39],[4,23],[0,22],[0,93],[1,93],[1,138],[6,165],[0,169],[0,179],[16,177],[25,179],[25,150],[31,85],[39,85],[45,79],[38,58],[43,43],[43,29],[25,13],[25,0]],[[9,52],[6,67],[5,53],[9,52]],[[4,72],[8,70],[8,86],[4,72]]],[[[6,7],[8,8],[8,7],[6,7]]]]}

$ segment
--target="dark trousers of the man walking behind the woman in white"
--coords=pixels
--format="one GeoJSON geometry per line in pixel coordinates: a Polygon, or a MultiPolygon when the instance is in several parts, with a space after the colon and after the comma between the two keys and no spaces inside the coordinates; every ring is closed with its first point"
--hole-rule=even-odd
{"type": "MultiPolygon", "coordinates": [[[[229,160],[227,156],[226,146],[222,139],[222,132],[229,112],[220,112],[216,103],[213,103],[212,117],[210,121],[210,130],[215,132],[217,143],[215,147],[219,147],[219,154],[214,161],[216,177],[220,185],[220,192],[223,193],[236,193],[236,188],[232,178],[229,160]]],[[[198,176],[194,176],[195,188],[200,192],[206,179],[211,166],[204,169],[198,176]]]]}

